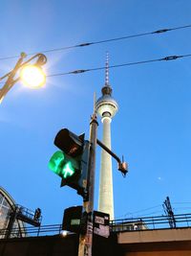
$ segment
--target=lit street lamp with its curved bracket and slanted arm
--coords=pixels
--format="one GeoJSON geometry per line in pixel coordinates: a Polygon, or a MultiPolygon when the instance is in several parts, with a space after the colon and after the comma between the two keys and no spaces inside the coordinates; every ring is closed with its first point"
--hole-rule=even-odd
{"type": "Polygon", "coordinates": [[[21,53],[21,57],[18,59],[11,72],[0,78],[0,81],[7,79],[0,89],[0,103],[3,101],[11,87],[19,80],[32,88],[38,88],[45,83],[46,76],[42,70],[42,66],[47,62],[46,56],[43,54],[36,54],[32,58],[23,61],[26,57],[27,55],[25,53],[21,53]],[[30,62],[33,59],[36,59],[36,61],[32,64],[30,62]],[[14,78],[19,70],[20,74],[18,74],[17,78],[14,78]]]}

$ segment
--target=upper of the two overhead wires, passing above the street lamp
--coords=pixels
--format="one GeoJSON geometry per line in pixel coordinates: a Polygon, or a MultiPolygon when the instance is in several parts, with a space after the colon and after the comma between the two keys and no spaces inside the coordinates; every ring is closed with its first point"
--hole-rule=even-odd
{"type": "MultiPolygon", "coordinates": [[[[182,29],[188,29],[188,28],[191,28],[191,25],[185,25],[185,26],[169,28],[169,29],[160,29],[160,30],[157,30],[154,32],[139,33],[139,34],[135,34],[135,35],[124,35],[124,36],[119,36],[119,37],[114,37],[114,38],[97,40],[97,41],[93,41],[93,42],[84,42],[84,43],[80,43],[80,44],[76,44],[76,45],[72,45],[72,46],[53,48],[50,50],[43,50],[43,51],[39,51],[39,52],[46,54],[46,53],[52,53],[52,52],[66,51],[69,49],[80,48],[80,47],[96,45],[96,44],[101,44],[101,43],[107,43],[107,42],[113,42],[113,41],[119,41],[119,40],[125,40],[125,39],[135,38],[135,37],[144,36],[144,35],[159,35],[159,34],[170,32],[170,31],[176,31],[176,30],[182,30],[182,29]]],[[[28,56],[35,55],[36,53],[37,52],[30,53],[30,54],[28,54],[28,56]]],[[[20,55],[10,56],[10,57],[2,57],[2,58],[0,58],[0,60],[19,58],[19,57],[20,57],[20,55]]]]}

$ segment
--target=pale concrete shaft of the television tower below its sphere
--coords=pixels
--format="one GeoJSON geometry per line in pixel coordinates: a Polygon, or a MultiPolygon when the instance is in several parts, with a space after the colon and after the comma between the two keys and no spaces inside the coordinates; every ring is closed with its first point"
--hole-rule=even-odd
{"type": "MultiPolygon", "coordinates": [[[[103,144],[111,149],[111,122],[110,115],[105,113],[101,119],[103,123],[103,144]]],[[[107,152],[101,151],[101,167],[99,174],[99,198],[98,211],[110,214],[110,220],[114,220],[114,196],[112,157],[107,152]]]]}

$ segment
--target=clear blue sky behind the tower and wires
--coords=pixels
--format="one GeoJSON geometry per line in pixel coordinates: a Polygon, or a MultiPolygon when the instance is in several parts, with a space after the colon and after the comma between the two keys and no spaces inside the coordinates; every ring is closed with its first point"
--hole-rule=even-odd
{"type": "MultiPolygon", "coordinates": [[[[189,0],[0,1],[0,57],[36,53],[123,35],[191,24],[189,0]]],[[[191,29],[47,54],[47,75],[172,55],[191,54],[191,29]]],[[[17,58],[0,60],[0,76],[17,58]]],[[[113,161],[116,218],[162,214],[169,196],[175,213],[190,211],[191,58],[110,70],[119,110],[112,148],[129,163],[126,178],[113,161]],[[153,208],[154,207],[154,208],[153,208]],[[149,209],[152,208],[152,209],[149,209]],[[143,211],[144,209],[148,209],[143,211]]],[[[32,90],[18,82],[0,105],[1,182],[43,223],[60,223],[65,208],[82,199],[48,169],[60,128],[89,136],[94,92],[104,71],[47,78],[32,90]]],[[[99,120],[98,138],[102,126],[99,120]]],[[[96,151],[96,199],[100,149],[96,151]]]]}

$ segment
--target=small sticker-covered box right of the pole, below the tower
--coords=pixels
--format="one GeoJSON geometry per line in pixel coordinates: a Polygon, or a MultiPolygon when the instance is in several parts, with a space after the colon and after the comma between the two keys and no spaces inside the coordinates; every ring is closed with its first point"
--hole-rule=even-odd
{"type": "Polygon", "coordinates": [[[110,236],[110,215],[94,211],[94,234],[108,238],[110,236]]]}

